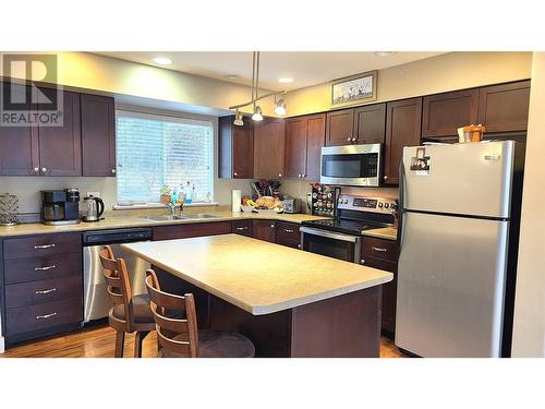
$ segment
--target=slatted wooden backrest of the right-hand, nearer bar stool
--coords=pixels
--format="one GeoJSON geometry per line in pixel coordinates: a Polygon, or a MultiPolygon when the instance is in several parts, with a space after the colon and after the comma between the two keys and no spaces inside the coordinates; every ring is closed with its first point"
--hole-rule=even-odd
{"type": "Polygon", "coordinates": [[[160,346],[171,352],[196,358],[198,330],[193,294],[182,297],[161,291],[153,269],[146,270],[146,287],[160,346]]]}

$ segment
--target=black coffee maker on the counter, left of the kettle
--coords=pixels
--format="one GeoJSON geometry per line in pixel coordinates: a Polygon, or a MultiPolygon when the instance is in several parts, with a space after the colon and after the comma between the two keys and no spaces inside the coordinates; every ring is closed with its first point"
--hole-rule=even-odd
{"type": "Polygon", "coordinates": [[[43,190],[41,222],[44,225],[75,225],[80,222],[80,191],[43,190]]]}

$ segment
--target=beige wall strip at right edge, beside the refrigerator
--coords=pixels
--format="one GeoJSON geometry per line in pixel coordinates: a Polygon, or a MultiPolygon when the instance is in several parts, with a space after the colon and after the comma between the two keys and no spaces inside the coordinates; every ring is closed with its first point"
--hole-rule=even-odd
{"type": "Polygon", "coordinates": [[[514,303],[513,357],[545,357],[545,52],[534,52],[514,303]]]}

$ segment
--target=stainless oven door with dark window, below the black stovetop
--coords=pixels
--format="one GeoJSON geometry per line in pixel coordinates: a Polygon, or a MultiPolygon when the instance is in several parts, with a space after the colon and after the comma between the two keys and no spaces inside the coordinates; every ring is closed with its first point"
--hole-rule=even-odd
{"type": "Polygon", "coordinates": [[[301,248],[311,253],[360,263],[361,237],[303,226],[301,248]]]}

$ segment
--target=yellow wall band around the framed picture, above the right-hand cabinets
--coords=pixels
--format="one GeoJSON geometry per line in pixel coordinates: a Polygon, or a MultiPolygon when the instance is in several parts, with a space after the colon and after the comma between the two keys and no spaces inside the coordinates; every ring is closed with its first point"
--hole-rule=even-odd
{"type": "MultiPolygon", "coordinates": [[[[379,70],[377,101],[523,80],[531,71],[532,52],[449,52],[379,70]]],[[[342,107],[330,101],[329,83],[286,95],[289,116],[342,107]]]]}

